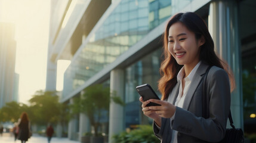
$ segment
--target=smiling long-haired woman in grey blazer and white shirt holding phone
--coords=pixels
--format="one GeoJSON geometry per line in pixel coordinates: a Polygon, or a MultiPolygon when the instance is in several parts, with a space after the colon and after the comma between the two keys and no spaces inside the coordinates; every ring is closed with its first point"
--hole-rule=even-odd
{"type": "Polygon", "coordinates": [[[224,62],[215,54],[202,18],[195,13],[174,15],[164,33],[164,55],[158,84],[162,99],[140,98],[143,113],[154,120],[155,135],[163,143],[221,141],[230,111],[232,76],[223,70],[224,62]],[[202,95],[209,66],[207,95],[202,95]],[[209,119],[202,117],[202,96],[209,96],[209,119]],[[146,107],[149,102],[161,106],[146,107]]]}

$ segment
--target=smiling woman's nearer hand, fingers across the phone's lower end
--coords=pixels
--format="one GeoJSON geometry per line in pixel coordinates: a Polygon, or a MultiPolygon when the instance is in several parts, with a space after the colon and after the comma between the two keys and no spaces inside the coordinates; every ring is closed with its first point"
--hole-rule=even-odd
{"type": "Polygon", "coordinates": [[[150,106],[149,107],[149,110],[153,110],[160,117],[171,118],[176,111],[175,105],[173,105],[167,101],[152,99],[152,100],[149,100],[148,102],[155,102],[157,104],[160,104],[160,106],[150,106]]]}

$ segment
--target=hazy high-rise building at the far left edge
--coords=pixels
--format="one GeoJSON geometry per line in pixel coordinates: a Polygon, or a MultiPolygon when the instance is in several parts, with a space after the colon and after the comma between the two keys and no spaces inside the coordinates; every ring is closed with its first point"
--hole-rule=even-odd
{"type": "Polygon", "coordinates": [[[11,23],[0,23],[0,108],[13,101],[16,84],[15,27],[11,23]]]}

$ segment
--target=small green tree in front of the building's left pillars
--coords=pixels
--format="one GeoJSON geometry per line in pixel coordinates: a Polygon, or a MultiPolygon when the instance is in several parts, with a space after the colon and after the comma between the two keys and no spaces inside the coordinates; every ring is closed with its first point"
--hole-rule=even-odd
{"type": "MultiPolygon", "coordinates": [[[[115,92],[111,94],[115,94],[115,92]]],[[[114,95],[110,98],[110,88],[103,87],[101,84],[92,85],[84,89],[84,94],[81,98],[74,99],[74,103],[70,105],[70,108],[72,113],[86,114],[94,127],[95,136],[98,136],[101,114],[103,110],[109,111],[110,99],[124,105],[124,102],[119,97],[114,95]]]]}

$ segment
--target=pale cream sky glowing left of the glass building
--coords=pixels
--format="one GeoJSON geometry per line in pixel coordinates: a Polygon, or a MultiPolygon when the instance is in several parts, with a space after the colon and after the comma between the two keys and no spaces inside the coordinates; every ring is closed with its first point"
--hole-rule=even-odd
{"type": "Polygon", "coordinates": [[[16,24],[19,102],[45,90],[50,0],[0,0],[0,22],[16,24]]]}

